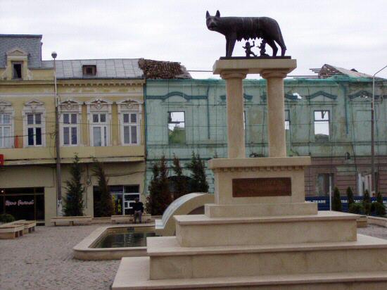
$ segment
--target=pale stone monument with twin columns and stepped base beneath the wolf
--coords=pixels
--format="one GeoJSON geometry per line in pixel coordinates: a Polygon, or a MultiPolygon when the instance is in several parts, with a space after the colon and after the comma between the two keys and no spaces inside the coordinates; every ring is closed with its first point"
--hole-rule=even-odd
{"type": "Polygon", "coordinates": [[[228,158],[209,161],[215,203],[175,215],[176,237],[122,258],[113,289],[387,289],[387,241],[357,234],[357,215],[305,202],[310,157],[286,157],[284,77],[291,58],[224,58],[228,158]],[[267,80],[269,157],[246,158],[243,86],[267,80]]]}

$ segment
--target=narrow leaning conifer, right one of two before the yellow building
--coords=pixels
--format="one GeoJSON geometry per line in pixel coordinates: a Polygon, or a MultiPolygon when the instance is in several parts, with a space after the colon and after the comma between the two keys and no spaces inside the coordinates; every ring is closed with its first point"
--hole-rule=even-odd
{"type": "Polygon", "coordinates": [[[96,216],[110,217],[113,215],[113,200],[108,188],[108,178],[98,160],[94,159],[94,175],[98,178],[100,200],[96,205],[96,216]]]}

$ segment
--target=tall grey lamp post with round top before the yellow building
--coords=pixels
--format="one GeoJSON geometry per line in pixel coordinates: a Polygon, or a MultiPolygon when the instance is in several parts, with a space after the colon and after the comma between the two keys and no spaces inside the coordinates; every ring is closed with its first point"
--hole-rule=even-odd
{"type": "Polygon", "coordinates": [[[56,86],[56,52],[51,53],[53,58],[53,82],[55,91],[55,148],[56,148],[56,216],[62,216],[62,170],[61,170],[61,138],[59,132],[59,100],[56,86]]]}

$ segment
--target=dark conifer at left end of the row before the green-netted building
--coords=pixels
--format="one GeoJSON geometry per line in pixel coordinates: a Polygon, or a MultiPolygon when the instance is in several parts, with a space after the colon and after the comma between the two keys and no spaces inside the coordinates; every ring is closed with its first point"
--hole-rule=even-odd
{"type": "Polygon", "coordinates": [[[163,215],[167,206],[172,203],[170,185],[168,181],[168,168],[165,156],[159,163],[152,166],[153,177],[148,187],[148,197],[146,198],[146,211],[151,215],[163,215]]]}

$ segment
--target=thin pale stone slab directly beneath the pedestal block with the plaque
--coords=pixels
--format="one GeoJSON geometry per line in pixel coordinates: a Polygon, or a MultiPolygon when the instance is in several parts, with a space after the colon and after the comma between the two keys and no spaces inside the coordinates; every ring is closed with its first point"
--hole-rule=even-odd
{"type": "Polygon", "coordinates": [[[208,217],[317,215],[317,203],[206,204],[204,210],[208,217]]]}

